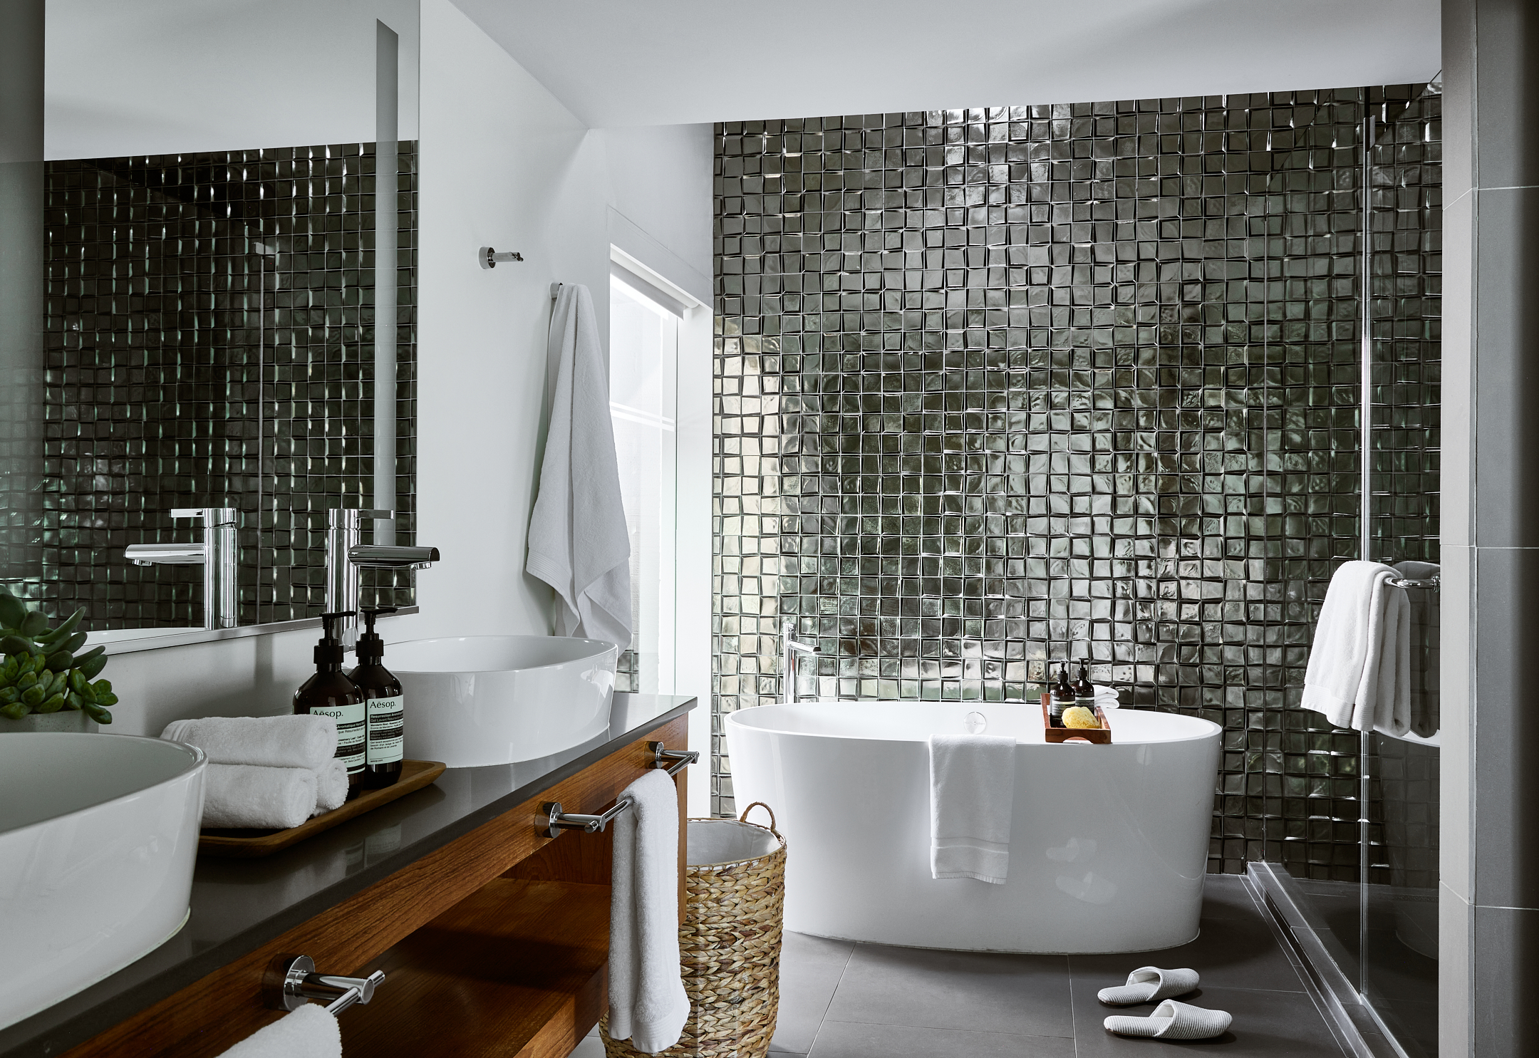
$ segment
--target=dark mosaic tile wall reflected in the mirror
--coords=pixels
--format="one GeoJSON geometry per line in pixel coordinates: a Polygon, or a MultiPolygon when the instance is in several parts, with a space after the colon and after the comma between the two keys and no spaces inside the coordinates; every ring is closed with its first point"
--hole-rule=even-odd
{"type": "MultiPolygon", "coordinates": [[[[202,624],[172,507],[240,511],[242,624],[320,612],[326,511],[371,506],[374,145],[52,161],[29,594],[92,629],[202,624]]],[[[416,481],[416,145],[400,149],[397,494],[416,481]]],[[[391,577],[391,575],[386,575],[391,577]]],[[[408,603],[386,578],[380,601],[408,603]]]]}

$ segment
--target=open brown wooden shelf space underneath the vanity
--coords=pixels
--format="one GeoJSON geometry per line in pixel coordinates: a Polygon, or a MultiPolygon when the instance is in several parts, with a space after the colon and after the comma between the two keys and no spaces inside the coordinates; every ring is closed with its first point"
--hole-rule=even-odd
{"type": "Polygon", "coordinates": [[[343,1052],[565,1058],[603,1013],[608,958],[608,886],[496,878],[369,963],[386,978],[339,1018],[343,1052]]]}

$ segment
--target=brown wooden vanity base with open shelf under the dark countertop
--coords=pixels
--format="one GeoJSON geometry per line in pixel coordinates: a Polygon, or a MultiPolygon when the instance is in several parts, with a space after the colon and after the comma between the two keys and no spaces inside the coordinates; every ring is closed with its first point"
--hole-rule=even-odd
{"type": "MultiPolygon", "coordinates": [[[[368,1006],[339,1018],[348,1055],[565,1058],[608,1003],[613,827],[553,840],[540,806],[602,812],[656,766],[654,740],[685,746],[688,718],[639,727],[582,770],[142,1007],[66,1058],[212,1058],[282,1016],[265,1004],[262,983],[275,958],[299,953],[328,973],[386,973],[368,1006]]],[[[676,781],[682,864],[685,777],[676,781]]],[[[679,892],[682,909],[683,870],[679,892]]]]}

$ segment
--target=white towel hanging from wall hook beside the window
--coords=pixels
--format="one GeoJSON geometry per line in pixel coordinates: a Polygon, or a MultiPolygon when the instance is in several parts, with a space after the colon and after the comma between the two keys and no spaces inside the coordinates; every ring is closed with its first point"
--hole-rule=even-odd
{"type": "Polygon", "coordinates": [[[609,374],[588,288],[563,283],[545,355],[556,361],[525,569],[556,589],[556,634],[631,646],[631,537],[609,418],[609,374]]]}

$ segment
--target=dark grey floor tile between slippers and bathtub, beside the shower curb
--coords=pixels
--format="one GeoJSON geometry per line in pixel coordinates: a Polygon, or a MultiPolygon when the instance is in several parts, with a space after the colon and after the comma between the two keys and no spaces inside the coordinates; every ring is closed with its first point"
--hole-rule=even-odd
{"type": "Polygon", "coordinates": [[[1140,966],[1162,966],[1191,967],[1210,987],[1304,992],[1297,970],[1260,915],[1205,918],[1197,940],[1163,952],[1070,955],[1068,964],[1076,981],[1094,981],[1097,989],[1122,984],[1140,966]]]}

